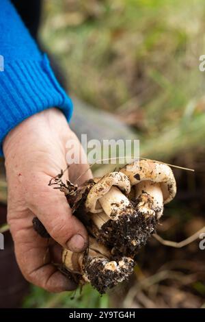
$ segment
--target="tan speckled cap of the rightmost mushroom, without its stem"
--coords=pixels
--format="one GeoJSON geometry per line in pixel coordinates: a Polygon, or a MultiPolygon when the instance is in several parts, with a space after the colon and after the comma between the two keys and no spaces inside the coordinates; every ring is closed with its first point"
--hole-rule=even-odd
{"type": "Polygon", "coordinates": [[[176,195],[176,181],[170,166],[155,160],[137,160],[120,169],[128,176],[131,186],[150,180],[159,183],[163,193],[163,202],[168,203],[176,195]]]}

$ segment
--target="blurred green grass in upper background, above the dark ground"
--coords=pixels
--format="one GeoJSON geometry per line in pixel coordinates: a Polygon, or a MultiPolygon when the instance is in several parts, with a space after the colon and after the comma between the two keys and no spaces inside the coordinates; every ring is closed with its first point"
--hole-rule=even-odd
{"type": "Polygon", "coordinates": [[[71,95],[134,127],[167,160],[204,140],[202,0],[44,1],[40,37],[71,95]]]}

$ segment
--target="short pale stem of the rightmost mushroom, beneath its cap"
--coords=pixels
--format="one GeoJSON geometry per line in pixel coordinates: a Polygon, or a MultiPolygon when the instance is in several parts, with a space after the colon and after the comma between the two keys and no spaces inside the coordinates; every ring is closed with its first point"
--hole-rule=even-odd
{"type": "Polygon", "coordinates": [[[163,193],[159,183],[144,180],[135,185],[136,210],[147,218],[163,214],[163,193]]]}

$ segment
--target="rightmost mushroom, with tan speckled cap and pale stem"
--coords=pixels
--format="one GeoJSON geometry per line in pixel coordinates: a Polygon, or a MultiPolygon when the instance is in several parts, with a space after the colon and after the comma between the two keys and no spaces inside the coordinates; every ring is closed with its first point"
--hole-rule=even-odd
{"type": "Polygon", "coordinates": [[[163,205],[176,195],[172,169],[162,162],[146,159],[127,164],[120,171],[128,176],[134,188],[137,212],[159,219],[163,214],[163,205]]]}

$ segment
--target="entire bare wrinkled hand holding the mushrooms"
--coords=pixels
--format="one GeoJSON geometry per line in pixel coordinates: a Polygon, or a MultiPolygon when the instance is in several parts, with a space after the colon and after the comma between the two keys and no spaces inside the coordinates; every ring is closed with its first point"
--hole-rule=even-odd
{"type": "MultiPolygon", "coordinates": [[[[20,123],[3,142],[8,180],[8,223],[16,259],[29,282],[51,292],[73,290],[76,284],[51,264],[48,245],[58,243],[71,251],[87,247],[85,227],[72,216],[66,197],[48,186],[51,177],[66,169],[66,142],[70,139],[76,140],[80,146],[64,114],[51,108],[20,123]],[[38,236],[33,230],[33,216],[38,216],[53,239],[48,241],[38,236]]],[[[69,179],[73,182],[87,167],[87,164],[72,164],[63,179],[68,178],[69,172],[69,179]]],[[[77,184],[90,177],[89,170],[77,184]]]]}

